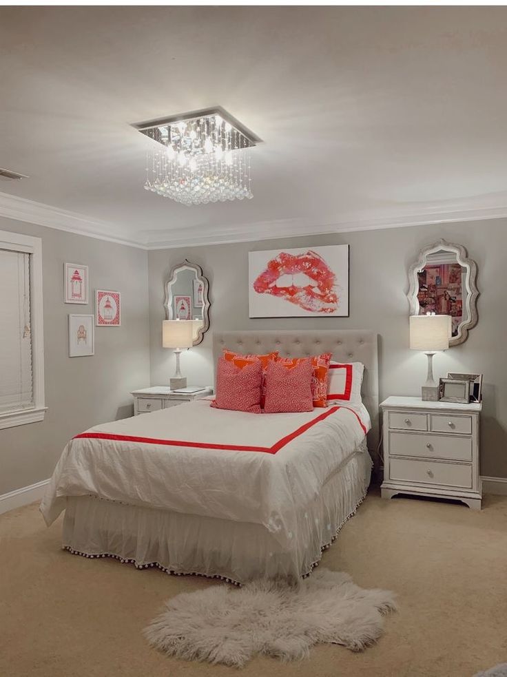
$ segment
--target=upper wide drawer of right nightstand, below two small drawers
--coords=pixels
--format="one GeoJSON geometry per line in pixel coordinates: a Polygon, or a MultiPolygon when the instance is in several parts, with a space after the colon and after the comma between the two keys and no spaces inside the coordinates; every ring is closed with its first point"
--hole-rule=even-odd
{"type": "Polygon", "coordinates": [[[454,435],[410,435],[389,433],[391,456],[420,456],[429,459],[472,460],[472,438],[454,435]]]}

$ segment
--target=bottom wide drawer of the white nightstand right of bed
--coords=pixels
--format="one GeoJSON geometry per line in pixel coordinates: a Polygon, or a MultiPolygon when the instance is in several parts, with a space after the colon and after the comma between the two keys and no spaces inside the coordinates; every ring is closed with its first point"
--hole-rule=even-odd
{"type": "Polygon", "coordinates": [[[415,459],[389,459],[389,479],[471,489],[472,466],[415,459]]]}

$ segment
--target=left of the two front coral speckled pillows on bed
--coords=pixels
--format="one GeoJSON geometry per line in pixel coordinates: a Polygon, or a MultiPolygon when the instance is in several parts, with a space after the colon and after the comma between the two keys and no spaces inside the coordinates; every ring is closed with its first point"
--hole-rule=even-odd
{"type": "Polygon", "coordinates": [[[220,357],[216,374],[216,397],[211,406],[217,409],[260,414],[262,364],[254,360],[240,367],[220,357]]]}

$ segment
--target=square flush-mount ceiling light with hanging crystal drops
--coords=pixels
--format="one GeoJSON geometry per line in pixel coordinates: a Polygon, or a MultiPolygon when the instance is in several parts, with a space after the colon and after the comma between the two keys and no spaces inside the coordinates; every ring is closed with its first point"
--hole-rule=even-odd
{"type": "Polygon", "coordinates": [[[250,149],[260,138],[223,108],[134,127],[157,142],[147,154],[146,190],[188,206],[253,197],[250,149]]]}

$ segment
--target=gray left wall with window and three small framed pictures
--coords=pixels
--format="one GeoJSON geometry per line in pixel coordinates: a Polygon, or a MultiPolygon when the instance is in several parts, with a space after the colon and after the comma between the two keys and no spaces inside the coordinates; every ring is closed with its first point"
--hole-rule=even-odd
{"type": "Polygon", "coordinates": [[[132,416],[130,390],[149,385],[147,253],[0,218],[0,230],[42,238],[45,419],[0,430],[0,494],[47,479],[68,439],[132,416]],[[90,303],[63,303],[63,263],[90,267],[90,303]],[[95,328],[95,355],[68,357],[67,315],[94,313],[94,289],[121,292],[122,325],[95,328]]]}

